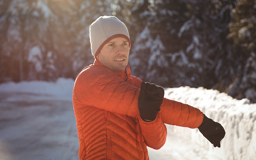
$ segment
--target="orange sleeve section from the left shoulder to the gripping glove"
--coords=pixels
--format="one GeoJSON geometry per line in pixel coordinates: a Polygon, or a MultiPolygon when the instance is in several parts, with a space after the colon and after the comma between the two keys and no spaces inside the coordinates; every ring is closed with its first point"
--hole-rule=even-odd
{"type": "Polygon", "coordinates": [[[73,95],[81,104],[134,118],[139,115],[139,94],[137,87],[96,67],[84,70],[73,88],[73,95]]]}

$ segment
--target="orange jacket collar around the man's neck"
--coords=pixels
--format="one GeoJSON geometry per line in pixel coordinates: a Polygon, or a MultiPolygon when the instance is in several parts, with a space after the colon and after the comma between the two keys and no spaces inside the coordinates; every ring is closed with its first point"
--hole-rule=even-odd
{"type": "MultiPolygon", "coordinates": [[[[99,60],[97,60],[97,59],[94,60],[93,65],[95,65],[95,66],[100,66],[100,67],[104,67],[104,68],[106,68],[107,70],[110,70],[110,69],[108,69],[107,67],[105,67],[105,66],[104,66],[99,60]]],[[[113,70],[110,70],[110,71],[113,72],[113,73],[115,73],[116,76],[118,76],[119,78],[123,79],[124,81],[127,79],[126,82],[128,82],[129,84],[133,83],[133,82],[131,82],[131,70],[130,70],[130,66],[129,66],[129,65],[126,66],[125,70],[120,71],[120,72],[115,72],[115,71],[113,71],[113,70]],[[126,76],[125,71],[126,71],[126,73],[127,73],[127,76],[126,76]]]]}

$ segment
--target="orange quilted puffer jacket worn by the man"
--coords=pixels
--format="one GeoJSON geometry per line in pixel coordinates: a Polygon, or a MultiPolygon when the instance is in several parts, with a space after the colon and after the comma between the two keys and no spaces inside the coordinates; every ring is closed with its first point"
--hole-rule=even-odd
{"type": "Polygon", "coordinates": [[[148,160],[147,147],[161,148],[166,126],[197,128],[203,113],[197,108],[163,99],[157,118],[140,118],[141,79],[131,70],[113,72],[98,60],[79,73],[73,88],[73,108],[80,160],[148,160]]]}

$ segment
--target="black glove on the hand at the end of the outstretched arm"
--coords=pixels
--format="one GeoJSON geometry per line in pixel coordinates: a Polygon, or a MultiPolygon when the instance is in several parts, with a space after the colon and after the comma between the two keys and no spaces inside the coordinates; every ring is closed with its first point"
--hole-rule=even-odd
{"type": "Polygon", "coordinates": [[[221,147],[221,140],[224,138],[226,132],[221,124],[214,122],[204,115],[202,124],[198,127],[201,134],[213,144],[214,147],[221,147]]]}

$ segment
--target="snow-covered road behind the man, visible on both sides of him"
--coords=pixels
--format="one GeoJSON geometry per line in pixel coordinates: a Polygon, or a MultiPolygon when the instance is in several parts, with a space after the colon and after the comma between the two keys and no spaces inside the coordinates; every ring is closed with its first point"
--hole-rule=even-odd
{"type": "MultiPolygon", "coordinates": [[[[78,160],[70,100],[35,93],[0,93],[0,160],[78,160]]],[[[208,160],[203,148],[168,125],[166,144],[150,160],[208,160]],[[202,152],[203,153],[203,152],[202,152]]]]}

